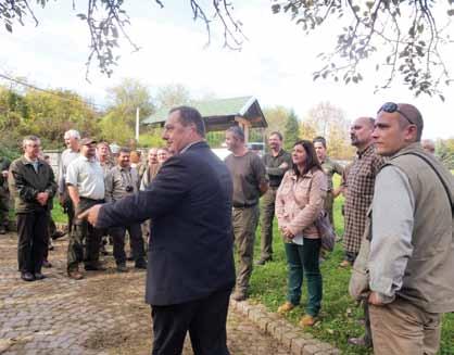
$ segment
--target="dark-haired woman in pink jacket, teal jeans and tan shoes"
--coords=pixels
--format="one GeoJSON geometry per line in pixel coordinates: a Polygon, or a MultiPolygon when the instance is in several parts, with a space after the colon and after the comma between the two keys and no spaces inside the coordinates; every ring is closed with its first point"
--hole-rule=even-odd
{"type": "Polygon", "coordinates": [[[314,145],[300,140],[293,145],[293,169],[286,173],[276,196],[276,216],[283,236],[288,264],[287,313],[300,304],[303,275],[307,282],[307,305],[300,325],[312,327],[321,306],[321,274],[318,264],[320,237],[314,224],[324,207],[327,179],[314,145]]]}

